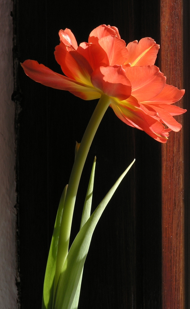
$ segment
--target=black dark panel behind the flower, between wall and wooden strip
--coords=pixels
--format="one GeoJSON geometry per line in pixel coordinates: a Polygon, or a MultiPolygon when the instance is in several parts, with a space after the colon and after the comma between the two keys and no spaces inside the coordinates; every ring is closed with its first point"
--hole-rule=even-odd
{"type": "MultiPolygon", "coordinates": [[[[158,0],[15,0],[14,60],[17,103],[18,254],[21,309],[41,308],[43,278],[59,198],[97,101],[30,80],[19,66],[55,61],[60,29],[78,44],[100,24],[119,29],[127,43],[150,36],[160,43],[158,0]]],[[[159,56],[158,62],[159,65],[159,56]]],[[[95,135],[79,187],[72,225],[79,230],[83,201],[97,156],[93,209],[135,158],[100,219],[85,262],[79,309],[161,308],[161,145],[119,120],[108,108],[95,135]]]]}

